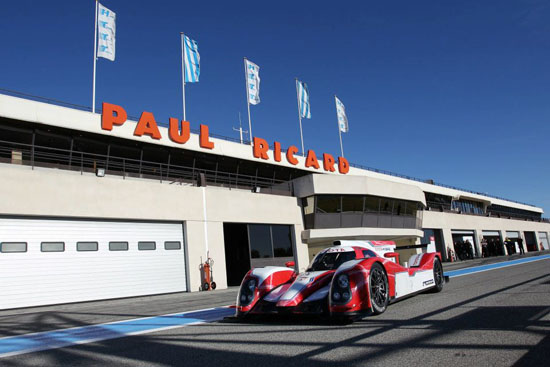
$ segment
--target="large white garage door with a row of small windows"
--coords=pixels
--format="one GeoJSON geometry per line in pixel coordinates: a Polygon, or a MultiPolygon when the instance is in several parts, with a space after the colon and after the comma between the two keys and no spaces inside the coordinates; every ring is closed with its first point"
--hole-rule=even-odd
{"type": "Polygon", "coordinates": [[[182,223],[0,219],[0,309],[186,291],[182,223]]]}

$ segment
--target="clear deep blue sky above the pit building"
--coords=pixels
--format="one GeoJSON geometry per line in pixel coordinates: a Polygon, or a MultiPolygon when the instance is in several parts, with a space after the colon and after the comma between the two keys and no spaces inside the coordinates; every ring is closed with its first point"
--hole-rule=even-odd
{"type": "MultiPolygon", "coordinates": [[[[543,207],[550,216],[550,3],[501,1],[122,1],[116,61],[97,103],[181,117],[179,33],[199,44],[194,128],[237,137],[243,57],[261,67],[254,135],[299,146],[294,78],[308,83],[306,149],[543,207]]],[[[0,88],[91,106],[94,1],[6,2],[0,88]]],[[[78,122],[75,122],[78,123],[78,122]]]]}

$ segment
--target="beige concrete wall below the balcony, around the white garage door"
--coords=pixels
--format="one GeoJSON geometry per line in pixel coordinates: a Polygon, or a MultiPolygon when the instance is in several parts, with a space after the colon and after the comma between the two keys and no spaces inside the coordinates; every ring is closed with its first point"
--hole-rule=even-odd
{"type": "Polygon", "coordinates": [[[0,164],[0,215],[184,222],[189,289],[201,279],[207,252],[219,288],[227,287],[223,222],[294,227],[297,266],[308,264],[301,241],[302,215],[294,197],[218,187],[170,185],[152,180],[0,164]],[[206,223],[206,225],[205,225],[206,223]],[[208,238],[208,241],[206,241],[208,238]]]}

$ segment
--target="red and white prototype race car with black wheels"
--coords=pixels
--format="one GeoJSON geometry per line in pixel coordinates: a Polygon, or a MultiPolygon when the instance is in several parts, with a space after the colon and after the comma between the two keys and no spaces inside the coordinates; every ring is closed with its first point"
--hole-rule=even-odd
{"type": "MultiPolygon", "coordinates": [[[[413,294],[443,289],[441,254],[412,255],[399,264],[392,241],[335,241],[304,273],[290,267],[251,269],[244,277],[236,316],[323,314],[353,320],[383,313],[413,294]]],[[[294,266],[294,263],[287,263],[294,266]]]]}

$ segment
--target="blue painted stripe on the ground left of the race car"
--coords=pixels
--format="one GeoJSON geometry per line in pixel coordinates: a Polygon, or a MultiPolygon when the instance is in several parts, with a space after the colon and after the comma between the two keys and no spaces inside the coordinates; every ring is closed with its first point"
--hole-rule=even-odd
{"type": "Polygon", "coordinates": [[[0,338],[0,358],[77,344],[122,338],[129,335],[151,333],[191,324],[212,322],[234,314],[234,309],[220,307],[21,336],[10,336],[0,338]]]}

